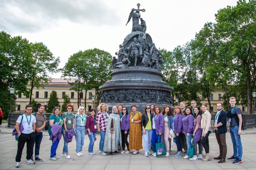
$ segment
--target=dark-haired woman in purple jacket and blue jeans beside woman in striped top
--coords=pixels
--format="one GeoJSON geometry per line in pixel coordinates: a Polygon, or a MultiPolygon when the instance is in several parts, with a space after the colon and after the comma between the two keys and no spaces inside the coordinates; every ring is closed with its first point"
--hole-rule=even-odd
{"type": "Polygon", "coordinates": [[[188,159],[189,158],[189,149],[191,146],[191,139],[193,135],[193,120],[194,117],[191,114],[192,109],[190,107],[187,107],[185,110],[185,117],[182,119],[182,132],[186,136],[187,139],[187,146],[188,146],[188,152],[187,155],[185,155],[183,158],[188,159]]]}

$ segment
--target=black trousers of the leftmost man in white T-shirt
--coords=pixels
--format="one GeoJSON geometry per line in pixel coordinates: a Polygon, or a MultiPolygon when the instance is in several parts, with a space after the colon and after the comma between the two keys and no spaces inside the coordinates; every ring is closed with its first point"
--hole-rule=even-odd
{"type": "Polygon", "coordinates": [[[35,133],[34,132],[32,132],[30,134],[24,134],[24,133],[20,134],[19,140],[18,140],[17,155],[15,158],[16,162],[21,161],[21,155],[22,155],[22,151],[25,146],[25,143],[26,143],[26,159],[29,160],[29,159],[31,159],[31,157],[33,155],[33,149],[34,149],[34,144],[35,144],[35,133]]]}

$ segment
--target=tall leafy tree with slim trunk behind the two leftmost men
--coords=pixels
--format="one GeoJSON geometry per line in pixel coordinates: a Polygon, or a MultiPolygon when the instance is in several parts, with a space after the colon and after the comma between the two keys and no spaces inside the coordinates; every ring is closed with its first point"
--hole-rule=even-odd
{"type": "Polygon", "coordinates": [[[32,47],[32,66],[30,68],[30,99],[32,103],[33,88],[44,87],[51,80],[49,74],[58,72],[59,57],[55,59],[52,52],[42,42],[30,43],[32,47]]]}

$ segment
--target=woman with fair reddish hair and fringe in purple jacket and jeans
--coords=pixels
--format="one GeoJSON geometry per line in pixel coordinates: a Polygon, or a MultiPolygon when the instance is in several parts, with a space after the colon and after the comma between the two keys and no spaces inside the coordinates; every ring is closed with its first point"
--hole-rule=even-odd
{"type": "Polygon", "coordinates": [[[181,156],[181,143],[180,143],[180,136],[182,135],[182,109],[180,106],[175,106],[174,108],[174,117],[173,117],[173,128],[174,128],[174,134],[176,135],[175,141],[177,145],[177,153],[174,155],[174,157],[180,157],[181,156]]]}

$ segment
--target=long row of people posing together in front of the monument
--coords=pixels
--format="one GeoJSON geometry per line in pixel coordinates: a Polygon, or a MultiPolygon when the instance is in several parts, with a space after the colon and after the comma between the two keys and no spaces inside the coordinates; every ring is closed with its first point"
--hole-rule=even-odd
{"type": "MultiPolygon", "coordinates": [[[[158,156],[156,144],[159,139],[164,141],[165,156],[170,156],[173,150],[173,143],[177,145],[177,152],[174,157],[182,156],[183,148],[184,159],[203,161],[211,160],[209,156],[209,134],[215,130],[216,139],[219,145],[220,154],[214,159],[218,163],[226,161],[227,145],[227,118],[228,132],[231,134],[233,143],[233,155],[228,160],[233,160],[234,164],[242,163],[242,144],[241,128],[242,114],[240,108],[236,107],[236,98],[230,98],[231,109],[228,113],[222,110],[222,103],[217,103],[218,112],[215,115],[215,125],[211,126],[211,113],[207,110],[207,104],[202,104],[200,108],[192,100],[191,107],[185,107],[185,102],[180,102],[175,106],[174,113],[172,108],[166,105],[163,110],[159,105],[148,104],[145,106],[144,113],[138,112],[136,105],[131,106],[132,112],[127,113],[127,107],[119,104],[112,107],[112,113],[108,113],[108,106],[101,103],[98,106],[98,113],[95,109],[90,110],[90,115],[86,116],[84,107],[80,106],[76,114],[72,113],[73,105],[67,104],[67,112],[61,116],[59,107],[53,109],[49,117],[50,140],[50,160],[59,159],[56,150],[61,140],[64,139],[63,152],[61,156],[70,159],[68,153],[68,143],[72,141],[72,136],[76,139],[76,156],[82,156],[84,136],[88,135],[90,144],[88,154],[94,155],[93,146],[96,140],[96,132],[100,132],[99,152],[102,155],[110,153],[115,155],[117,151],[121,154],[138,154],[142,146],[142,135],[144,138],[144,156],[158,156]],[[127,140],[129,135],[129,142],[127,140]],[[193,145],[193,149],[190,149],[193,145]],[[197,148],[198,145],[198,148],[197,148]],[[205,157],[202,155],[202,146],[205,149],[205,157]],[[125,151],[127,148],[127,151],[125,151]],[[197,149],[199,155],[197,155],[197,149]],[[151,151],[153,153],[151,153],[151,151]],[[190,155],[190,156],[189,156],[190,155]],[[193,155],[193,156],[191,156],[193,155]]],[[[43,161],[39,158],[40,143],[42,141],[42,129],[46,125],[46,117],[43,114],[45,107],[38,107],[38,112],[32,114],[32,105],[27,105],[25,114],[20,115],[16,121],[16,131],[18,132],[18,150],[16,155],[16,168],[20,167],[21,154],[25,143],[27,143],[26,164],[35,164],[33,160],[33,148],[35,145],[35,161],[43,161]]]]}

